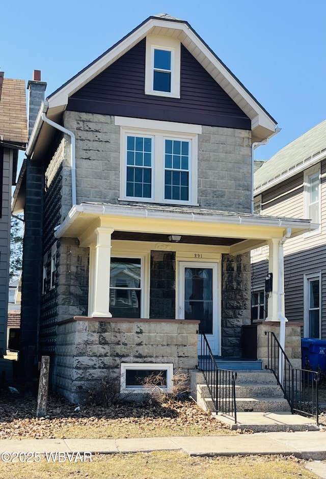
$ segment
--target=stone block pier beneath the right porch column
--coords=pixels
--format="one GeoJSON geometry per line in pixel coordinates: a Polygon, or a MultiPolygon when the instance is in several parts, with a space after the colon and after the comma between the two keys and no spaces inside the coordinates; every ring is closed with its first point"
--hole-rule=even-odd
{"type": "MultiPolygon", "coordinates": [[[[286,323],[285,326],[285,354],[293,367],[301,368],[301,323],[286,323]]],[[[267,335],[271,331],[280,339],[279,322],[257,323],[257,358],[262,360],[262,367],[267,365],[267,335]]]]}

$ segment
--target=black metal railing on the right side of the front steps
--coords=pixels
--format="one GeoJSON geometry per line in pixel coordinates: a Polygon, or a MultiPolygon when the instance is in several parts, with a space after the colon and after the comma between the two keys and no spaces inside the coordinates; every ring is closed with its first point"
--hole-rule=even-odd
{"type": "Polygon", "coordinates": [[[270,369],[282,388],[291,412],[315,416],[318,424],[319,373],[292,366],[277,337],[271,331],[267,335],[267,369],[270,369]]]}

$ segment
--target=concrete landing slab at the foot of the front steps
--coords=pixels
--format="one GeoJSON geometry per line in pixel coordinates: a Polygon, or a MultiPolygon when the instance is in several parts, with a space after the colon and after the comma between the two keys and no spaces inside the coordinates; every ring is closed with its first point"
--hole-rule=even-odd
{"type": "Polygon", "coordinates": [[[254,432],[319,430],[316,419],[285,411],[238,412],[236,424],[234,424],[234,418],[226,414],[212,413],[212,415],[219,421],[228,424],[232,430],[251,429],[254,432]]]}

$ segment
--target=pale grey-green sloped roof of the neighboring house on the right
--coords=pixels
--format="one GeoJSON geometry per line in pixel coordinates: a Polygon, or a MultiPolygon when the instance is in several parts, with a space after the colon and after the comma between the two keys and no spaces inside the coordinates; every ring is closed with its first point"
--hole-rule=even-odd
{"type": "Polygon", "coordinates": [[[292,141],[255,172],[254,191],[259,194],[326,157],[326,120],[292,141]]]}

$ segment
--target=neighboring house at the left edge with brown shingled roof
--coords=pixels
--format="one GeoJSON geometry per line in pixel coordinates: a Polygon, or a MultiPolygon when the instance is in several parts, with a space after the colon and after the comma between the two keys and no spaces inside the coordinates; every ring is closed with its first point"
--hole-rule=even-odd
{"type": "Polygon", "coordinates": [[[27,140],[25,82],[0,72],[0,357],[7,349],[11,187],[27,140]]]}

